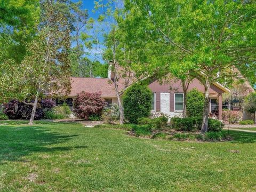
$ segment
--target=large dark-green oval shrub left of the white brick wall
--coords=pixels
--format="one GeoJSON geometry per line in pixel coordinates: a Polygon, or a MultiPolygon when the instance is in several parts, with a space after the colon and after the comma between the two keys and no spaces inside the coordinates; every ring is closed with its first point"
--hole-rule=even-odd
{"type": "Polygon", "coordinates": [[[140,117],[149,117],[151,110],[151,91],[147,86],[134,84],[123,94],[124,116],[129,123],[137,124],[140,117]]]}

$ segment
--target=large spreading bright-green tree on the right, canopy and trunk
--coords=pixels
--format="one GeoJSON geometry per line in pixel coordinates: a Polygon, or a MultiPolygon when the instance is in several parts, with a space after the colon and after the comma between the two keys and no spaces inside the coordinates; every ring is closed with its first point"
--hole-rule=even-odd
{"type": "Polygon", "coordinates": [[[149,68],[180,63],[204,85],[207,132],[210,85],[242,77],[238,66],[250,66],[243,75],[255,74],[255,2],[127,0],[125,7],[125,37],[148,48],[140,58],[149,68]]]}

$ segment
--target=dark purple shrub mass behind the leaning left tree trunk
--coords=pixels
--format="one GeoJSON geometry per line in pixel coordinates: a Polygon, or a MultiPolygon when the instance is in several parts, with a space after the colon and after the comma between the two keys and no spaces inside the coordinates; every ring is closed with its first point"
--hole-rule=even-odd
{"type": "MultiPolygon", "coordinates": [[[[51,110],[54,103],[51,99],[42,99],[37,104],[35,119],[42,119],[46,111],[51,110]]],[[[29,119],[33,106],[26,105],[18,100],[11,100],[5,105],[4,114],[10,119],[29,119]]]]}

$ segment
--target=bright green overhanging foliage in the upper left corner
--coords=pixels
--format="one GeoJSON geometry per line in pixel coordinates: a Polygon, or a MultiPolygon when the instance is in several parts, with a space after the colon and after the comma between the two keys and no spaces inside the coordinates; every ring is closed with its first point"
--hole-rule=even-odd
{"type": "Polygon", "coordinates": [[[20,62],[26,54],[26,43],[35,35],[39,22],[39,0],[0,1],[0,61],[13,59],[20,62]],[[1,57],[3,56],[3,57],[1,57]]]}

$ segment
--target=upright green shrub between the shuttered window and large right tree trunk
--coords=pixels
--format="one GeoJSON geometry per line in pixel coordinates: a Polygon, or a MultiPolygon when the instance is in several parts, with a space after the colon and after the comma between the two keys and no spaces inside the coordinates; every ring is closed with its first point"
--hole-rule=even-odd
{"type": "Polygon", "coordinates": [[[197,89],[193,89],[187,94],[187,116],[203,117],[204,94],[197,89]]]}

